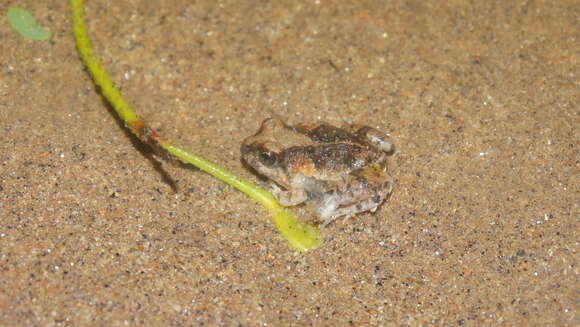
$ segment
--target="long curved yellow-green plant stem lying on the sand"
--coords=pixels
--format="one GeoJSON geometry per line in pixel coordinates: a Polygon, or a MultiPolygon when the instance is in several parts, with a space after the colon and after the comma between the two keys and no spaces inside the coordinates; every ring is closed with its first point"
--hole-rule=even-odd
{"type": "Polygon", "coordinates": [[[182,162],[191,164],[205,171],[258,201],[266,209],[270,210],[278,232],[288,240],[295,250],[306,252],[319,246],[321,236],[318,228],[297,220],[289,210],[282,207],[276,201],[272,194],[248,180],[236,177],[229,171],[205,160],[201,156],[173,145],[171,142],[162,139],[155,130],[151,129],[137,115],[129,103],[125,101],[121,92],[114,86],[113,80],[103,67],[99,58],[95,55],[85,23],[83,0],[70,0],[70,6],[75,41],[80,57],[91,73],[95,84],[100,87],[102,94],[111,103],[115,112],[121,117],[131,132],[154,149],[166,151],[182,162]]]}

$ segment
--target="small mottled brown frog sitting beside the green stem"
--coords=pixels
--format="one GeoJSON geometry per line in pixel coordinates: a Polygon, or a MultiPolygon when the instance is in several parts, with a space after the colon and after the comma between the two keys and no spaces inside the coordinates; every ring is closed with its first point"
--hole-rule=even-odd
{"type": "Polygon", "coordinates": [[[326,225],[374,212],[389,196],[393,179],[386,159],[393,150],[389,138],[372,127],[288,126],[268,118],[242,143],[242,158],[275,183],[280,204],[311,204],[326,225]]]}

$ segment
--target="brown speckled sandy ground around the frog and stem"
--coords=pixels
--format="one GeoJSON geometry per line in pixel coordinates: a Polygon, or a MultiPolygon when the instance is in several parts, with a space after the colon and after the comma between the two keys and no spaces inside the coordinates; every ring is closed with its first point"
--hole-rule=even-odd
{"type": "Polygon", "coordinates": [[[66,1],[3,1],[0,325],[580,323],[578,1],[86,7],[167,138],[259,181],[239,146],[264,118],[368,124],[395,140],[395,192],[298,254],[254,201],[121,128],[66,1]],[[52,40],[11,30],[10,5],[52,40]]]}

